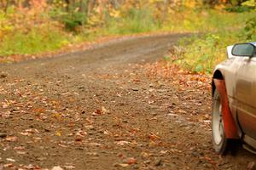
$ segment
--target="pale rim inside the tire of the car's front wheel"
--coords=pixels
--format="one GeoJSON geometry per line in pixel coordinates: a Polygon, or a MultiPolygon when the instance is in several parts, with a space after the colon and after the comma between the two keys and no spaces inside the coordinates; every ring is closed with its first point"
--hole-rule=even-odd
{"type": "Polygon", "coordinates": [[[215,100],[212,114],[212,133],[215,144],[221,144],[224,139],[224,123],[222,117],[222,105],[220,99],[215,100]]]}

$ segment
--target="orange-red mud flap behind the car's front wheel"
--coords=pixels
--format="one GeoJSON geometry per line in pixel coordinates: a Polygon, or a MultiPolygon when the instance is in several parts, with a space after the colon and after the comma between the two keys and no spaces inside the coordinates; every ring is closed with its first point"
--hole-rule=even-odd
{"type": "Polygon", "coordinates": [[[227,139],[239,139],[236,122],[231,115],[228,94],[224,80],[213,79],[216,89],[220,95],[222,105],[222,116],[224,121],[224,132],[227,139]]]}

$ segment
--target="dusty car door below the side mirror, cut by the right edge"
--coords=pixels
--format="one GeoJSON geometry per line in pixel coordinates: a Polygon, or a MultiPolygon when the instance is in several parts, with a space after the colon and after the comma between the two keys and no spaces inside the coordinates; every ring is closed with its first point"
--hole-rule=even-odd
{"type": "Polygon", "coordinates": [[[256,139],[256,58],[242,58],[236,72],[237,119],[243,133],[256,139]]]}

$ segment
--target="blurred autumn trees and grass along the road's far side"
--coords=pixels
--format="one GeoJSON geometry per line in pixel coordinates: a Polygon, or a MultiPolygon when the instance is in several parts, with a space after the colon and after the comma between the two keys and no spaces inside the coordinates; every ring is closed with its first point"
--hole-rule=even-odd
{"type": "MultiPolygon", "coordinates": [[[[246,3],[246,8],[242,6],[246,3]]],[[[153,31],[216,31],[234,23],[224,8],[242,0],[2,0],[0,56],[39,54],[109,35],[153,31]]],[[[248,7],[249,5],[249,7],[248,7]]],[[[236,8],[237,7],[237,8],[236,8]]],[[[254,26],[249,22],[251,28],[254,26]]],[[[254,27],[253,27],[254,28],[254,27]]],[[[247,31],[252,37],[254,31],[247,31]]]]}

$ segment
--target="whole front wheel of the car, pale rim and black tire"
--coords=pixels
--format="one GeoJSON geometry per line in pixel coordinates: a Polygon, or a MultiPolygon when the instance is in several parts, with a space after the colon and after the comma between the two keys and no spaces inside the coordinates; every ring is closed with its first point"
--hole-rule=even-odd
{"type": "Polygon", "coordinates": [[[230,140],[225,137],[221,109],[220,95],[215,90],[212,98],[212,144],[218,154],[224,155],[230,146],[230,140]]]}

